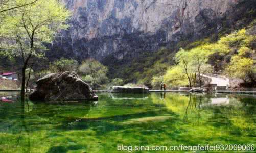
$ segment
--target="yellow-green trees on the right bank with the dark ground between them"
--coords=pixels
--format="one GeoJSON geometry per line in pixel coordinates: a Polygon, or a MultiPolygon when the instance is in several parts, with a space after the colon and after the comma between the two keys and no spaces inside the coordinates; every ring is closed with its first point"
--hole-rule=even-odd
{"type": "Polygon", "coordinates": [[[171,86],[202,86],[202,74],[214,72],[255,84],[253,44],[256,36],[250,34],[250,30],[235,31],[215,43],[205,43],[189,50],[180,49],[175,56],[178,64],[168,69],[164,82],[171,86]]]}

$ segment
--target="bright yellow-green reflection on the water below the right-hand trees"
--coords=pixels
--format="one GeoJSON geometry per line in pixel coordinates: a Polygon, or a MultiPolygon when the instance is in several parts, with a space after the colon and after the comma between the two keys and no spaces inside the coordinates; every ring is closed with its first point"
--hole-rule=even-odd
{"type": "MultiPolygon", "coordinates": [[[[152,94],[152,100],[155,104],[164,104],[169,110],[174,111],[182,117],[184,123],[200,122],[208,119],[210,116],[221,115],[216,117],[229,118],[234,112],[231,110],[237,110],[243,108],[246,113],[251,113],[251,110],[255,109],[254,97],[247,97],[243,95],[203,95],[203,94],[180,94],[173,93],[167,94],[165,100],[164,94],[152,94]],[[157,98],[160,96],[159,99],[157,98]],[[246,100],[245,100],[246,99],[246,100]]],[[[254,114],[253,114],[254,115],[254,114]]],[[[247,118],[247,117],[246,117],[247,118]]],[[[251,118],[254,118],[251,116],[251,118]]]]}

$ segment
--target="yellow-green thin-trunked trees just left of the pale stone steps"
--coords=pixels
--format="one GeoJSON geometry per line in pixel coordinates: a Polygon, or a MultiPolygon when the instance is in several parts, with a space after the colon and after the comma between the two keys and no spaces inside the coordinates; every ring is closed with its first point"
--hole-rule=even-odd
{"type": "Polygon", "coordinates": [[[181,48],[175,56],[178,65],[168,69],[164,75],[164,82],[169,86],[185,86],[189,84],[189,80],[192,83],[196,74],[203,74],[212,70],[212,67],[207,64],[208,57],[212,53],[200,46],[191,50],[181,48]]]}

